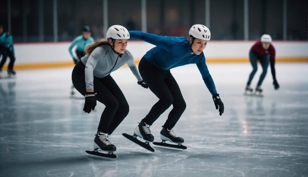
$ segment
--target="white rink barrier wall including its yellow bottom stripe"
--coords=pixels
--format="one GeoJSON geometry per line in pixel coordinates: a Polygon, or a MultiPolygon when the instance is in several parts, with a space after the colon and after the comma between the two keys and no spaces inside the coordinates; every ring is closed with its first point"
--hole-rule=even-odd
{"type": "MultiPolygon", "coordinates": [[[[204,51],[206,63],[249,62],[248,53],[255,42],[209,41],[204,51]]],[[[72,67],[74,63],[68,52],[70,44],[71,42],[15,43],[14,69],[72,67]]],[[[273,45],[276,49],[276,62],[308,62],[308,41],[273,41],[273,45]]],[[[144,41],[129,41],[127,49],[138,64],[152,47],[154,45],[144,41]]],[[[3,69],[6,68],[7,65],[3,69]]]]}

